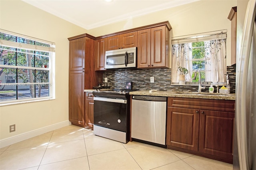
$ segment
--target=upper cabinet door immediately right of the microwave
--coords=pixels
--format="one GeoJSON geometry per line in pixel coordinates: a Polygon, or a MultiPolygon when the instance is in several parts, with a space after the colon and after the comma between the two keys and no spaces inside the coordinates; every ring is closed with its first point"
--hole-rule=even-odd
{"type": "Polygon", "coordinates": [[[137,67],[150,67],[151,29],[138,31],[137,67]]]}

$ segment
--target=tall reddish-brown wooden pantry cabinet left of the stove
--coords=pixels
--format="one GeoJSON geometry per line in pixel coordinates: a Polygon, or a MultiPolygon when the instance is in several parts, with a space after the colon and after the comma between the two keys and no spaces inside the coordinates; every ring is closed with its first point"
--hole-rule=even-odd
{"type": "Polygon", "coordinates": [[[69,121],[86,127],[84,89],[92,89],[94,76],[94,37],[82,34],[69,40],[69,121]]]}

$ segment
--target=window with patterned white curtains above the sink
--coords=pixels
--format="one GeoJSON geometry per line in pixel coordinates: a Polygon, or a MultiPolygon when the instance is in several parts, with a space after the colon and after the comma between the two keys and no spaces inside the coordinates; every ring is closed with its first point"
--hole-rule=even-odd
{"type": "Polygon", "coordinates": [[[226,30],[173,39],[172,84],[179,84],[180,67],[188,70],[186,84],[199,81],[199,70],[201,82],[226,83],[226,30]]]}

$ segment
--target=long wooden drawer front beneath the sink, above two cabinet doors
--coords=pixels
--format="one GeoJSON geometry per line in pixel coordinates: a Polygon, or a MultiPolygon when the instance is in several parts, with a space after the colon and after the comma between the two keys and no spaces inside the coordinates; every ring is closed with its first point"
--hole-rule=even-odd
{"type": "Polygon", "coordinates": [[[168,97],[168,107],[235,112],[235,101],[168,97]]]}

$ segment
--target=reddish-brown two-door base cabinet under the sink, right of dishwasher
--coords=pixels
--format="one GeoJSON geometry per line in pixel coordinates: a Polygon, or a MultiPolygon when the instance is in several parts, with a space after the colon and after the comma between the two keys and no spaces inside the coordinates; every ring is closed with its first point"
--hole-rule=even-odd
{"type": "Polygon", "coordinates": [[[235,101],[168,97],[167,148],[232,164],[234,106],[235,101]]]}

